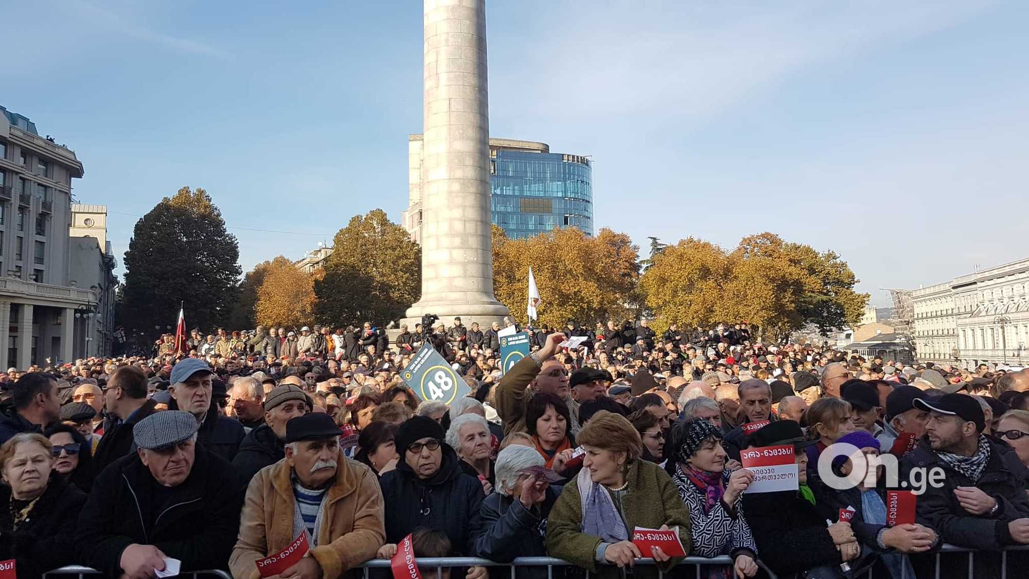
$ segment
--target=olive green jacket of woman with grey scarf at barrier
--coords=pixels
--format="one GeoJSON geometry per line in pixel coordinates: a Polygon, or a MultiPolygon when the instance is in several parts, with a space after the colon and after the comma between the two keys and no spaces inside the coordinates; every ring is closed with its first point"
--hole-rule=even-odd
{"type": "MultiPolygon", "coordinates": [[[[682,548],[688,553],[689,509],[682,499],[679,499],[672,477],[668,476],[660,466],[637,458],[630,465],[626,478],[629,486],[622,502],[622,516],[627,522],[629,536],[632,537],[633,529],[636,526],[646,529],[661,529],[663,524],[669,527],[678,526],[682,548]]],[[[601,579],[619,577],[618,568],[611,565],[600,567],[598,572],[596,554],[601,539],[596,535],[582,533],[581,529],[581,499],[578,485],[573,479],[565,485],[561,497],[551,510],[551,516],[546,519],[546,552],[553,557],[565,559],[591,573],[598,573],[601,579]]],[[[647,553],[643,554],[646,556],[647,553]]],[[[679,560],[681,559],[673,558],[663,566],[662,570],[667,572],[679,560]]],[[[637,568],[636,576],[657,577],[658,570],[650,566],[637,568]]]]}

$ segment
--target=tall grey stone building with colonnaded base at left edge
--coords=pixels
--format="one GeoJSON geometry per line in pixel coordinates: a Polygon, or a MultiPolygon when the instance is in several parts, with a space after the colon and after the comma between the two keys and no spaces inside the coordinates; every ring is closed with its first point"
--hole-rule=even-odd
{"type": "Polygon", "coordinates": [[[68,272],[71,180],[81,177],[72,150],[0,106],[2,370],[71,362],[85,352],[97,290],[76,286],[68,272]]]}

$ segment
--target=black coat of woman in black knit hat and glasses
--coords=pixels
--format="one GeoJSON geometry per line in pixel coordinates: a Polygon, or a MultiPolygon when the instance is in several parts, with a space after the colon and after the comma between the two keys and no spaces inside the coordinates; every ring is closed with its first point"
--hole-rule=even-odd
{"type": "Polygon", "coordinates": [[[418,478],[404,461],[380,479],[386,505],[386,542],[399,543],[412,531],[427,526],[442,531],[459,554],[475,552],[482,532],[483,484],[461,472],[457,453],[440,444],[442,462],[436,474],[418,478]]]}

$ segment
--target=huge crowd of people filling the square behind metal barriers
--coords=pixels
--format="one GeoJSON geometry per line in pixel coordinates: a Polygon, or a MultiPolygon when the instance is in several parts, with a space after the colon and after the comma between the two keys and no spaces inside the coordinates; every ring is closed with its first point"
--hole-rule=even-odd
{"type": "Polygon", "coordinates": [[[181,350],[165,337],[149,356],[0,373],[0,560],[19,578],[72,564],[154,577],[174,558],[249,579],[306,535],[309,553],[279,577],[335,578],[411,536],[419,557],[683,572],[641,551],[644,527],[728,556],[701,570],[710,578],[899,579],[931,576],[944,544],[975,549],[982,577],[999,576],[1000,549],[1029,545],[1029,371],[765,344],[745,323],[659,335],[642,320],[531,328],[531,353],[505,372],[499,323],[434,321],[392,341],[370,322],[193,330],[181,350]],[[404,383],[423,344],[467,397],[423,401],[404,383]],[[825,480],[826,464],[840,477],[876,468],[821,459],[842,443],[895,455],[900,481],[944,476],[916,496],[915,520],[890,524],[888,477],[825,480]],[[796,488],[748,492],[741,453],[772,446],[792,447],[796,488]]]}

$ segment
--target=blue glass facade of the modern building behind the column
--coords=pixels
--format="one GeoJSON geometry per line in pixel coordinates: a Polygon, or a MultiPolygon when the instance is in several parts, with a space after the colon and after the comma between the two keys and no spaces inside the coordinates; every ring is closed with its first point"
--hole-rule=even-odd
{"type": "Polygon", "coordinates": [[[490,149],[490,210],[507,237],[574,227],[593,236],[593,168],[576,155],[490,149]]]}

